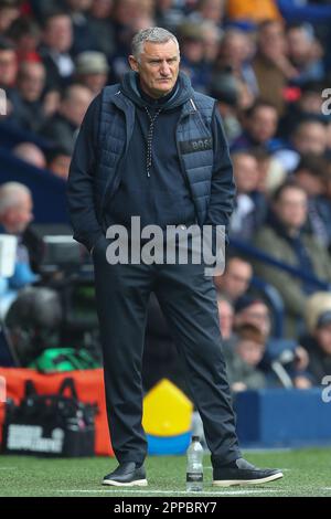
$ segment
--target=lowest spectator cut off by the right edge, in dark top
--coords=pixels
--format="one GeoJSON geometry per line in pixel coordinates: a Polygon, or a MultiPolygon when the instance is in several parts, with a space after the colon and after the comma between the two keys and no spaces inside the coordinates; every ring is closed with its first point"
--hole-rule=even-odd
{"type": "Polygon", "coordinates": [[[307,335],[301,338],[309,353],[307,368],[314,385],[331,373],[331,295],[317,293],[307,301],[307,335]]]}

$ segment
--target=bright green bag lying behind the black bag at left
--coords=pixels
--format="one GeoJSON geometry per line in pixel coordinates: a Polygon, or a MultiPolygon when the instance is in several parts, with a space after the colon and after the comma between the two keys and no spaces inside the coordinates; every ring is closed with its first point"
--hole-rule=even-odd
{"type": "Polygon", "coordinates": [[[74,348],[49,348],[28,366],[42,373],[90,370],[99,367],[100,363],[87,350],[74,348]]]}

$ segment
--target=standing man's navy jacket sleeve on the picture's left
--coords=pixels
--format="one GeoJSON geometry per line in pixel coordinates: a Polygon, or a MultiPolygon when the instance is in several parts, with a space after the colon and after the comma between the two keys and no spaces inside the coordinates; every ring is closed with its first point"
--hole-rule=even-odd
{"type": "Polygon", "coordinates": [[[67,208],[74,239],[88,251],[104,234],[94,201],[94,174],[97,163],[97,134],[100,95],[89,105],[81,126],[70,167],[67,208]]]}

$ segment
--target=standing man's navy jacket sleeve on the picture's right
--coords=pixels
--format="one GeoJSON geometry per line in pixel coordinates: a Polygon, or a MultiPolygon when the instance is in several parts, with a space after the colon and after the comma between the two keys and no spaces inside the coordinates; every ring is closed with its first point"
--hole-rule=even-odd
{"type": "Polygon", "coordinates": [[[212,131],[214,141],[214,166],[206,224],[224,225],[227,241],[227,227],[233,211],[235,182],[229,159],[228,145],[224,135],[221,115],[215,103],[212,131]]]}

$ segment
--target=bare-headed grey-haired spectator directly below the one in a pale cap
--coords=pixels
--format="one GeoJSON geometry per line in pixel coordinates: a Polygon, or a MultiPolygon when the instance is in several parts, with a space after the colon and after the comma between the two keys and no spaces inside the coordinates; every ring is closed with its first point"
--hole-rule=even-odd
{"type": "Polygon", "coordinates": [[[62,147],[72,152],[77,131],[93,97],[86,86],[68,86],[63,94],[58,112],[42,127],[40,134],[54,147],[62,147]]]}

